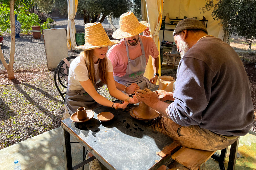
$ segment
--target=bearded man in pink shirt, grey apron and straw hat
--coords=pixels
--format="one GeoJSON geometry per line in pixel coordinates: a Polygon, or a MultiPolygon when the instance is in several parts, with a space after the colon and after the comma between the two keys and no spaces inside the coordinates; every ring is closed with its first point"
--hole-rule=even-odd
{"type": "Polygon", "coordinates": [[[113,65],[117,89],[133,94],[138,89],[154,87],[159,76],[159,52],[151,37],[139,35],[147,28],[147,22],[139,22],[132,12],[127,12],[120,16],[119,25],[112,36],[122,40],[107,54],[113,65]],[[143,76],[149,55],[155,73],[150,80],[143,76]]]}

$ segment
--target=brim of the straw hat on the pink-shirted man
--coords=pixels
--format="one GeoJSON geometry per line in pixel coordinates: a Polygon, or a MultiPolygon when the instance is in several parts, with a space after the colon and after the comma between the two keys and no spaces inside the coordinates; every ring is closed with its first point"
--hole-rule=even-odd
{"type": "Polygon", "coordinates": [[[129,33],[122,31],[120,28],[117,29],[116,31],[113,32],[112,37],[116,39],[123,39],[123,38],[133,37],[140,34],[141,32],[146,30],[148,23],[146,21],[140,21],[139,23],[140,23],[140,26],[137,27],[135,30],[134,29],[131,30],[129,33]]]}

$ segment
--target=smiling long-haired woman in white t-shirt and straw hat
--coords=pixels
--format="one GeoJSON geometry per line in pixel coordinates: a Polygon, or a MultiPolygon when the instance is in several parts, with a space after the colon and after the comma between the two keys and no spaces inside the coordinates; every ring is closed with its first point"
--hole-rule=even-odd
{"type": "Polygon", "coordinates": [[[126,108],[129,103],[137,103],[116,89],[113,78],[113,67],[106,57],[108,46],[119,43],[118,40],[109,40],[101,23],[85,24],[85,44],[76,46],[83,49],[77,58],[70,64],[68,75],[68,89],[65,96],[64,117],[70,117],[79,107],[94,109],[100,105],[113,108],[126,108]],[[98,82],[101,80],[100,82],[98,82]],[[98,83],[97,83],[98,82],[98,83]],[[123,104],[113,103],[101,96],[97,89],[107,84],[111,96],[126,100],[123,104]]]}

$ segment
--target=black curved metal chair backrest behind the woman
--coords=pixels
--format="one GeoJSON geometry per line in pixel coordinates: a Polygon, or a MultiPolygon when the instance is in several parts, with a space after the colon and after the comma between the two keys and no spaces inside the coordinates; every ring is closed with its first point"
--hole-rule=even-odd
{"type": "Polygon", "coordinates": [[[66,89],[68,88],[68,71],[70,63],[76,58],[76,56],[70,56],[61,60],[58,64],[55,74],[54,82],[55,86],[60,93],[62,99],[65,101],[64,95],[66,94],[66,89]],[[64,88],[64,89],[63,89],[64,88]]]}

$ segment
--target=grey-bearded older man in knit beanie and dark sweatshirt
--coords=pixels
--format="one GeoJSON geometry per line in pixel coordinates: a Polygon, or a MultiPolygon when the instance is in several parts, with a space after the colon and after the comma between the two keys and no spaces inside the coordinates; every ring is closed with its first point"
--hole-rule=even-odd
{"type": "Polygon", "coordinates": [[[180,21],[173,32],[182,58],[174,93],[136,94],[163,115],[152,124],[156,130],[184,147],[221,150],[249,132],[254,107],[239,56],[230,45],[207,34],[197,19],[180,21]]]}

